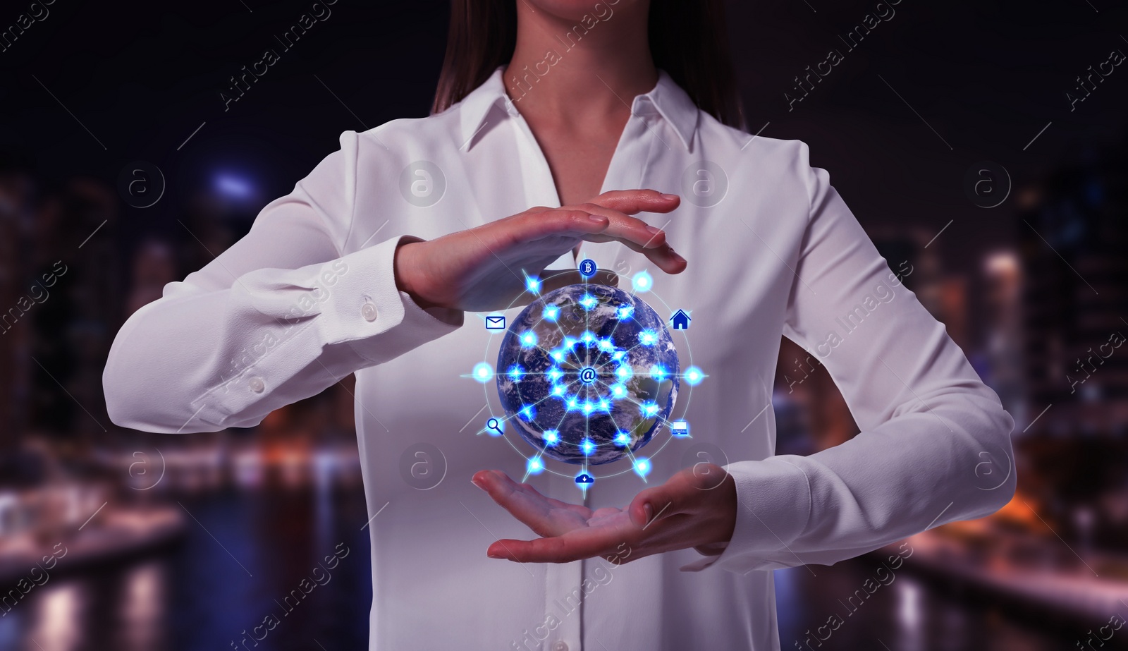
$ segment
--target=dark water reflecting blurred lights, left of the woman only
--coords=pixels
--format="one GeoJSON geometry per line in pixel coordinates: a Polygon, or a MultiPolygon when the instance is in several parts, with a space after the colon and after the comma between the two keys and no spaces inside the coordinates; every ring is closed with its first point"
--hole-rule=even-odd
{"type": "Polygon", "coordinates": [[[0,650],[203,651],[244,636],[254,648],[249,634],[272,613],[280,623],[259,649],[317,650],[315,639],[334,651],[367,648],[371,572],[359,490],[321,484],[179,501],[199,520],[182,542],[52,574],[0,617],[0,650]],[[315,572],[338,544],[349,555],[332,577],[315,572]],[[311,577],[320,582],[300,602],[279,606],[311,577]]]}

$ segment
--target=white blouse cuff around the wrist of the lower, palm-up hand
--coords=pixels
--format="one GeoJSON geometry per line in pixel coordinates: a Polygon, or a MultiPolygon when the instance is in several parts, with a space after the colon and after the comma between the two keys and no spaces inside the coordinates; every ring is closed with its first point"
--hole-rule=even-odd
{"type": "Polygon", "coordinates": [[[737,524],[724,552],[681,568],[699,572],[716,565],[730,572],[801,565],[790,546],[807,529],[811,489],[807,473],[782,457],[735,461],[724,467],[737,484],[737,524]]]}

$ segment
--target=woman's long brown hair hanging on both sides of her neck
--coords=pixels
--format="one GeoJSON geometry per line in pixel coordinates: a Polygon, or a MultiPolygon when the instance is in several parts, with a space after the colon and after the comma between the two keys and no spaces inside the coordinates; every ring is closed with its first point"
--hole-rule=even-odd
{"type": "MultiPolygon", "coordinates": [[[[509,63],[517,45],[518,0],[451,0],[447,56],[432,113],[446,111],[509,63]]],[[[647,32],[654,65],[723,124],[744,129],[723,0],[652,0],[647,32]]]]}

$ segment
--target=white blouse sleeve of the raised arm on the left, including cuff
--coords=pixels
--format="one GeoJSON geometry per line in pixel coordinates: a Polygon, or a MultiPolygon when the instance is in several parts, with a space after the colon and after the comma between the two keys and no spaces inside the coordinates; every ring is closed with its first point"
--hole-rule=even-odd
{"type": "Polygon", "coordinates": [[[343,255],[356,217],[358,140],[342,133],[341,149],[263,208],[246,237],[126,320],[103,373],[114,423],[254,425],[461,325],[461,313],[423,310],[398,291],[400,237],[343,255]]]}

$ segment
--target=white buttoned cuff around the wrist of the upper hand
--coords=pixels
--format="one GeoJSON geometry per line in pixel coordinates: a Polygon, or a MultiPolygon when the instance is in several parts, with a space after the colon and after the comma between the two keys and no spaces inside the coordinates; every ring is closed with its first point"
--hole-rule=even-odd
{"type": "Polygon", "coordinates": [[[461,310],[423,309],[396,287],[395,255],[402,244],[420,241],[404,236],[351,253],[338,261],[332,300],[319,324],[327,343],[345,343],[367,363],[395,359],[462,325],[461,310]]]}

